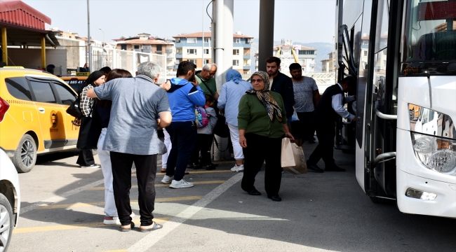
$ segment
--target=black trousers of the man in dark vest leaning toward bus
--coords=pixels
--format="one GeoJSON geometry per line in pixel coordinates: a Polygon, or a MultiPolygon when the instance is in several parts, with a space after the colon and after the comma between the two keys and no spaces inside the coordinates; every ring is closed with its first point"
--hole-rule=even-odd
{"type": "Polygon", "coordinates": [[[316,125],[316,137],[318,137],[318,146],[316,146],[314,152],[310,155],[310,164],[316,164],[323,158],[325,167],[330,167],[334,164],[334,137],[335,137],[335,123],[334,122],[321,122],[317,121],[316,125]]]}

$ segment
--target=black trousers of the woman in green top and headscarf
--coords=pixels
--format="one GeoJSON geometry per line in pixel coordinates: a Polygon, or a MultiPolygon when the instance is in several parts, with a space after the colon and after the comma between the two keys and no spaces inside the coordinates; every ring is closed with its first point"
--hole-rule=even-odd
{"type": "Polygon", "coordinates": [[[245,135],[247,147],[243,148],[244,153],[244,174],[241,187],[246,192],[255,189],[255,176],[260,172],[264,160],[266,168],[264,171],[264,189],[267,195],[278,195],[282,180],[281,167],[281,138],[263,137],[257,134],[248,133],[245,135]]]}

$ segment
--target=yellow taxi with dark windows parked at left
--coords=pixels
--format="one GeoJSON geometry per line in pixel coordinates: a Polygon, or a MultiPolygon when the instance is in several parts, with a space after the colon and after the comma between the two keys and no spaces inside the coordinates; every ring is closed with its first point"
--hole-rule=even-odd
{"type": "Polygon", "coordinates": [[[76,92],[51,73],[0,68],[0,148],[18,172],[36,155],[76,149],[79,127],[66,110],[76,92]]]}

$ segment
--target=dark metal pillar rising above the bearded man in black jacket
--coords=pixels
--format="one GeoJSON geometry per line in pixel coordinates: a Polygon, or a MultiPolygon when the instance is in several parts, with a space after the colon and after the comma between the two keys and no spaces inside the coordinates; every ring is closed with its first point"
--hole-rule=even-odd
{"type": "Polygon", "coordinates": [[[274,1],[260,1],[260,35],[258,37],[258,70],[266,71],[265,60],[274,53],[274,1]]]}

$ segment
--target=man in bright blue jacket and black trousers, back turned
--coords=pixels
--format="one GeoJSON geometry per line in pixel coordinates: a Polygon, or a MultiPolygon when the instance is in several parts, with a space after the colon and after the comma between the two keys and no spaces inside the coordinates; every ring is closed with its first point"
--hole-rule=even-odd
{"type": "Polygon", "coordinates": [[[168,100],[173,120],[166,127],[172,148],[168,155],[166,175],[162,183],[170,188],[189,188],[193,183],[185,181],[185,169],[196,142],[195,106],[204,106],[206,97],[195,79],[195,64],[183,61],[177,66],[177,78],[171,79],[168,100]],[[190,82],[192,81],[192,82],[190,82]]]}

